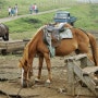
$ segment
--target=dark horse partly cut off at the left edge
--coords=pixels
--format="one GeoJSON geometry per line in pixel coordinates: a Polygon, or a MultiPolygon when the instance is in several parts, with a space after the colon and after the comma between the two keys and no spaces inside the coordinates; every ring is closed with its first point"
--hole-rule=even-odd
{"type": "Polygon", "coordinates": [[[9,40],[9,27],[4,24],[0,24],[0,37],[3,40],[9,40]]]}

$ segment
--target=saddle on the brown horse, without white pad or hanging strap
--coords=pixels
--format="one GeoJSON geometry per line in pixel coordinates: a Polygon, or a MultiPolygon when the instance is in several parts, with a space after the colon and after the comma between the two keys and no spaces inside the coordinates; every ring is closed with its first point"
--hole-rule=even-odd
{"type": "Polygon", "coordinates": [[[64,30],[65,23],[60,23],[58,26],[49,24],[44,28],[44,40],[48,46],[58,47],[61,38],[60,33],[64,30]],[[51,36],[54,38],[52,41],[51,36]]]}

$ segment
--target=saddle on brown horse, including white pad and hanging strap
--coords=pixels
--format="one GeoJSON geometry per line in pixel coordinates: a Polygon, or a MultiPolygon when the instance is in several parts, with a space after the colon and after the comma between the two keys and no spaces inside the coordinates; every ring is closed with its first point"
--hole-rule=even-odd
{"type": "MultiPolygon", "coordinates": [[[[59,25],[49,24],[44,28],[44,41],[48,46],[50,53],[54,52],[54,48],[58,47],[62,38],[65,38],[66,28],[65,23],[60,23],[59,25]],[[63,34],[64,33],[64,34],[63,34]],[[52,40],[53,37],[53,40],[52,40]]],[[[70,34],[70,33],[68,33],[70,34]]],[[[68,38],[68,37],[66,37],[68,38]]]]}

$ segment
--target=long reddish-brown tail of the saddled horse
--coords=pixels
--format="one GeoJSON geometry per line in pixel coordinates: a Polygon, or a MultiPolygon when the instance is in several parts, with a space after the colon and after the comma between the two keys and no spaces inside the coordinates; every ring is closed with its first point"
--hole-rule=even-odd
{"type": "Polygon", "coordinates": [[[87,35],[89,37],[89,42],[90,42],[90,47],[91,47],[95,65],[98,65],[98,51],[97,51],[96,38],[89,33],[87,33],[87,35]]]}

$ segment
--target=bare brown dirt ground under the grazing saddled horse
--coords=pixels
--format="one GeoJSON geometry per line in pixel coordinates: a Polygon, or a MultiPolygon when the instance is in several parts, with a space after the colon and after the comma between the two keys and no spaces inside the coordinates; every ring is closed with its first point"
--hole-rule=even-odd
{"type": "MultiPolygon", "coordinates": [[[[38,73],[38,59],[34,60],[33,86],[21,87],[21,70],[17,66],[22,56],[0,56],[0,98],[95,98],[66,95],[66,65],[63,58],[52,58],[52,83],[46,84],[47,68],[44,63],[40,83],[35,83],[34,78],[38,73]]],[[[81,91],[79,91],[81,93],[81,91]]]]}

